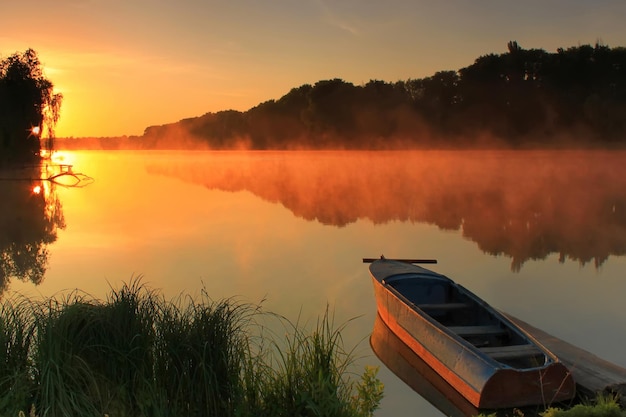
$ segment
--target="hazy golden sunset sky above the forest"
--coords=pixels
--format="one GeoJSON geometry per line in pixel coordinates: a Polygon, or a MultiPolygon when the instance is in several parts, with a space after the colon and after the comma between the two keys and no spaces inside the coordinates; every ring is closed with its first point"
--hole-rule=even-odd
{"type": "Polygon", "coordinates": [[[0,58],[37,51],[58,137],[141,135],[292,88],[458,70],[515,40],[626,46],[624,0],[0,0],[0,58]]]}

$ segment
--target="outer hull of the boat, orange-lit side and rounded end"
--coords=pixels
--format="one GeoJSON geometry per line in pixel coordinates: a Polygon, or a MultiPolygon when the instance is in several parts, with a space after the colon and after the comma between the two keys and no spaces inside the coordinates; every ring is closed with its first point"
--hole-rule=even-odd
{"type": "Polygon", "coordinates": [[[380,275],[373,273],[372,278],[383,322],[475,407],[549,405],[575,395],[571,373],[556,357],[552,356],[543,366],[528,369],[503,366],[390,290],[385,278],[392,273],[380,275]]]}

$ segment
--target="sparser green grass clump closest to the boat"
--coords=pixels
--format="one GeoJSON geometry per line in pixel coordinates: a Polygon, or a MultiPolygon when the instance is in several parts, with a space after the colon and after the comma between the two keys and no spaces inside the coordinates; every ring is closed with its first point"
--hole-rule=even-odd
{"type": "MultiPolygon", "coordinates": [[[[286,327],[284,340],[270,338],[271,349],[256,363],[261,376],[258,392],[258,416],[368,416],[382,398],[382,392],[369,390],[366,383],[356,386],[347,375],[353,363],[352,351],[346,351],[341,339],[345,325],[335,327],[326,310],[312,331],[281,318],[286,327]],[[369,406],[360,397],[377,398],[369,406]],[[376,397],[375,395],[379,395],[376,397]]],[[[365,378],[375,377],[371,370],[365,378]]],[[[376,389],[380,389],[378,384],[376,389]]]]}

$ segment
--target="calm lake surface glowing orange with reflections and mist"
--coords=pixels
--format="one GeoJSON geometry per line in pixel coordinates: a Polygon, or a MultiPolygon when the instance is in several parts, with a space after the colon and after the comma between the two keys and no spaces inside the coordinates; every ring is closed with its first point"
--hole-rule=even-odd
{"type": "Polygon", "coordinates": [[[76,152],[94,182],[0,181],[4,294],[236,296],[292,321],[329,305],[379,365],[378,416],[442,413],[391,372],[363,257],[436,258],[492,305],[626,366],[626,153],[76,152]]]}

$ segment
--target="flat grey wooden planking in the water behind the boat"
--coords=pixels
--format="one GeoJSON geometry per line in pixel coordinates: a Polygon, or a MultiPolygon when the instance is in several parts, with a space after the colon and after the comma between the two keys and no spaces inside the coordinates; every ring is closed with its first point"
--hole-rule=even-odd
{"type": "Polygon", "coordinates": [[[550,349],[570,369],[580,394],[592,399],[599,393],[615,394],[619,396],[620,404],[626,406],[625,368],[552,336],[516,317],[508,314],[507,317],[550,349]]]}

